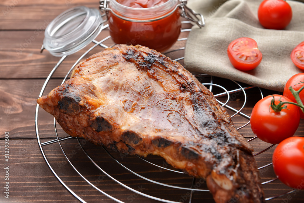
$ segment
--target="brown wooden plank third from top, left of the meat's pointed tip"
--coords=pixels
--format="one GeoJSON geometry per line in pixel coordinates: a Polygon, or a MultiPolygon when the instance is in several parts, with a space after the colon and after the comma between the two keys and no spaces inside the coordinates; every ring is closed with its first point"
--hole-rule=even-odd
{"type": "MultiPolygon", "coordinates": [[[[59,86],[62,79],[51,79],[48,83],[43,95],[49,93],[52,89],[59,86]]],[[[0,127],[1,133],[10,131],[14,133],[15,138],[35,138],[34,115],[36,110],[36,99],[39,96],[40,90],[43,86],[44,79],[8,79],[0,80],[0,118],[2,125],[0,127]]],[[[253,94],[253,92],[251,93],[253,94]]],[[[238,101],[233,101],[233,103],[238,101]]],[[[250,104],[252,105],[252,103],[250,104]]],[[[245,113],[250,114],[250,108],[247,106],[245,113]]],[[[231,113],[232,114],[232,113],[231,113]]],[[[245,124],[248,120],[240,116],[234,119],[237,127],[245,124]]],[[[53,117],[40,109],[39,124],[43,131],[44,137],[55,137],[54,135],[54,121],[53,117]]],[[[242,133],[247,137],[253,136],[249,127],[242,129],[242,133]]]]}

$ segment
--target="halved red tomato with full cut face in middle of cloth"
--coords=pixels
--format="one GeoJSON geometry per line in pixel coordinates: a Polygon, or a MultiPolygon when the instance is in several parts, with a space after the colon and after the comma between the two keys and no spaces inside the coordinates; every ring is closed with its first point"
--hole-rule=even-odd
{"type": "Polygon", "coordinates": [[[256,68],[262,60],[262,53],[257,48],[257,42],[248,37],[233,40],[228,46],[227,53],[232,65],[241,71],[256,68]]]}

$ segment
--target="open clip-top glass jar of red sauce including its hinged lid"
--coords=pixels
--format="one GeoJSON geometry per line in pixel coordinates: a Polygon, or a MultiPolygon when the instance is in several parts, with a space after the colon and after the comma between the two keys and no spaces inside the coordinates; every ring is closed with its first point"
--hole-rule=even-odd
{"type": "Polygon", "coordinates": [[[119,3],[127,1],[100,0],[102,15],[98,9],[85,6],[61,13],[47,26],[41,52],[47,49],[54,56],[73,54],[92,42],[107,21],[116,44],[140,44],[159,52],[169,49],[178,39],[180,16],[199,27],[205,25],[203,16],[189,9],[186,0],[162,0],[160,4],[145,8],[119,3]]]}

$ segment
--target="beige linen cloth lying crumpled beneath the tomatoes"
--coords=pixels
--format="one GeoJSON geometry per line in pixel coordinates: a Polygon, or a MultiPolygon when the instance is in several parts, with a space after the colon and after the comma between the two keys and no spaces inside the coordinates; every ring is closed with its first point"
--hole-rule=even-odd
{"type": "Polygon", "coordinates": [[[261,0],[190,0],[188,6],[204,15],[206,25],[192,27],[185,48],[185,67],[282,92],[287,80],[302,72],[292,63],[290,53],[304,41],[304,3],[287,2],[293,12],[291,23],[285,30],[268,30],[257,18],[261,0]],[[263,54],[254,70],[239,71],[229,61],[227,47],[240,37],[254,39],[263,54]]]}

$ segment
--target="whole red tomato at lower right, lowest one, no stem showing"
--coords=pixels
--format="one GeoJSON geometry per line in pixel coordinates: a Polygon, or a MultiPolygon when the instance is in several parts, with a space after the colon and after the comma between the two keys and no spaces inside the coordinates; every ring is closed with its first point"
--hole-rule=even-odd
{"type": "Polygon", "coordinates": [[[283,140],[272,156],[273,169],[282,183],[298,190],[304,189],[304,138],[283,140]]]}

